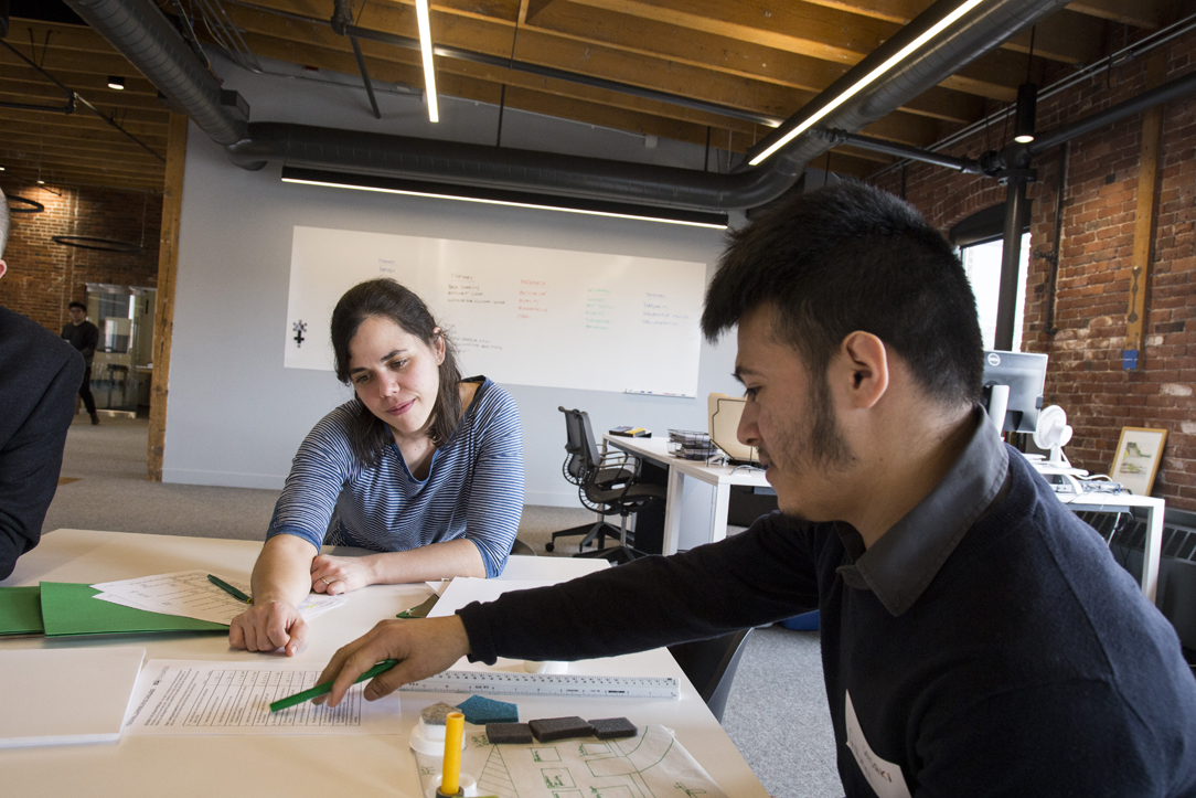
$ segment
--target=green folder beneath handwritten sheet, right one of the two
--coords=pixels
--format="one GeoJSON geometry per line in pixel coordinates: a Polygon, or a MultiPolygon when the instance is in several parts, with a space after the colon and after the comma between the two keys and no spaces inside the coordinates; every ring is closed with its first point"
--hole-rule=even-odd
{"type": "Polygon", "coordinates": [[[45,636],[228,631],[224,623],[151,613],[93,598],[100,592],[86,584],[43,581],[41,607],[45,636]]]}

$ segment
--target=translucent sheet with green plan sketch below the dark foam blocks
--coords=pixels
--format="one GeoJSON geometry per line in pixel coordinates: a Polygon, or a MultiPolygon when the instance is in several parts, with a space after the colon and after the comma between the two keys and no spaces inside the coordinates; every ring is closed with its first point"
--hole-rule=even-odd
{"type": "MultiPolygon", "coordinates": [[[[635,737],[560,739],[553,743],[492,745],[481,726],[465,726],[460,770],[477,780],[478,793],[499,798],[565,796],[652,796],[725,798],[714,779],[664,726],[635,737]],[[498,753],[498,756],[495,756],[498,753]]],[[[440,774],[441,760],[416,754],[421,794],[440,774]]]]}

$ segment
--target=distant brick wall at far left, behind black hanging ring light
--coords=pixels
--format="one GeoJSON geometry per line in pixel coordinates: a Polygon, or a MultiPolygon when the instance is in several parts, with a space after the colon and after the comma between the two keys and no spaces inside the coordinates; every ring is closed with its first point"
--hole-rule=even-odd
{"type": "Polygon", "coordinates": [[[85,301],[87,282],[157,286],[161,194],[53,187],[59,196],[4,179],[0,188],[6,195],[45,206],[42,213],[12,214],[0,305],[57,333],[68,319],[67,305],[85,301]],[[54,236],[111,238],[142,244],[144,249],[136,254],[98,252],[56,244],[54,236]]]}

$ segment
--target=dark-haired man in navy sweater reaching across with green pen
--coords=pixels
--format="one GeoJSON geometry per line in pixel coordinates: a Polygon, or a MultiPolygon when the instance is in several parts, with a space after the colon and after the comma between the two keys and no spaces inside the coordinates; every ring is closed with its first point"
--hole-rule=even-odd
{"type": "Polygon", "coordinates": [[[780,513],[383,622],[329,663],[328,700],[385,658],[368,699],[464,654],[602,657],[817,607],[847,796],[1196,798],[1174,631],[988,422],[975,300],[942,237],[862,185],[781,202],[732,236],[707,292],[707,336],[736,325],[739,438],[780,513]]]}

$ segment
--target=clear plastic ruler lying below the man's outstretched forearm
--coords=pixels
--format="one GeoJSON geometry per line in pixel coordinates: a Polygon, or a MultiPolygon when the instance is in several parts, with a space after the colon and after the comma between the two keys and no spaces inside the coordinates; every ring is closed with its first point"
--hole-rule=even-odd
{"type": "Polygon", "coordinates": [[[573,674],[515,674],[511,671],[446,670],[402,690],[428,693],[489,693],[492,695],[574,695],[604,699],[677,699],[681,689],[671,676],[575,676],[573,674]]]}

